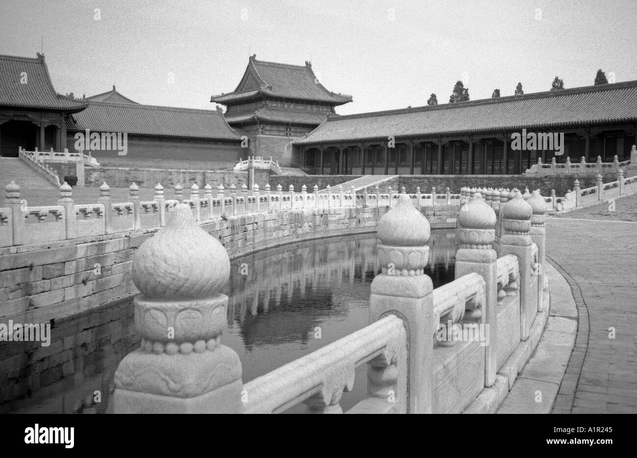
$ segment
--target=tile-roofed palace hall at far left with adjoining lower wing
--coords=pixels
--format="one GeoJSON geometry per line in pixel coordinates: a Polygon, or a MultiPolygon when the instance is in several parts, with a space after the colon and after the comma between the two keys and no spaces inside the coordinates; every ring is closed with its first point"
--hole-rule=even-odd
{"type": "Polygon", "coordinates": [[[221,110],[140,104],[115,86],[84,99],[62,96],[44,55],[0,55],[0,155],[17,157],[18,147],[73,151],[75,134],[87,131],[127,134],[125,155],[117,148],[91,151],[108,166],[227,168],[248,155],[221,110]]]}

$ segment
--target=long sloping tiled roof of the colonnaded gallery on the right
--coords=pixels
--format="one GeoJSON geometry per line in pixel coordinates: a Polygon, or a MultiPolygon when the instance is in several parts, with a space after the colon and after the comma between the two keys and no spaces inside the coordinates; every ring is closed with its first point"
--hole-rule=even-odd
{"type": "Polygon", "coordinates": [[[549,129],[637,120],[637,81],[329,117],[296,145],[549,129]]]}

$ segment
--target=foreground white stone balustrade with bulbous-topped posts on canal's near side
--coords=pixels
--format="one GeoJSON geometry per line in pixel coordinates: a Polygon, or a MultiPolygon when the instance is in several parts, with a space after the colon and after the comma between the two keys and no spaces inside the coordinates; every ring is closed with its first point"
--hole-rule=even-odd
{"type": "Polygon", "coordinates": [[[278,413],[303,403],[309,413],[343,413],[361,364],[368,397],[347,413],[480,411],[485,390],[501,402],[548,316],[546,203],[539,192],[512,192],[495,209],[479,192],[462,197],[454,282],[433,289],[429,222],[399,194],[378,222],[382,272],[369,326],[245,384],[238,355],[221,343],[228,254],[192,204],[175,204],[134,254],[142,341],[115,373],[115,412],[278,413]]]}

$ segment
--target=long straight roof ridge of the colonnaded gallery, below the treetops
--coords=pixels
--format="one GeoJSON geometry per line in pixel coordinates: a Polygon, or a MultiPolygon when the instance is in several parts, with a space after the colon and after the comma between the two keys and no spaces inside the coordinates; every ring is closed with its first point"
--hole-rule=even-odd
{"type": "MultiPolygon", "coordinates": [[[[351,115],[341,115],[340,118],[365,118],[369,116],[384,116],[384,115],[393,115],[397,113],[413,113],[414,111],[434,111],[434,110],[448,110],[455,108],[457,106],[473,106],[473,105],[486,105],[490,103],[503,103],[514,100],[529,100],[529,99],[540,99],[544,97],[560,97],[566,96],[569,94],[585,94],[587,92],[601,92],[599,86],[603,86],[601,90],[617,90],[624,89],[626,87],[637,87],[637,80],[625,81],[620,83],[606,83],[606,84],[598,84],[598,85],[590,85],[590,86],[580,86],[580,87],[571,87],[568,89],[559,89],[559,90],[545,90],[542,92],[531,92],[529,94],[521,94],[521,95],[513,95],[513,96],[504,96],[504,97],[489,97],[487,99],[477,99],[477,100],[468,100],[462,102],[455,103],[442,103],[437,105],[422,105],[422,106],[414,106],[412,108],[395,108],[394,110],[380,110],[380,111],[365,111],[363,113],[352,113],[351,115]]],[[[341,94],[345,95],[345,94],[341,94]]],[[[327,121],[333,120],[334,118],[328,118],[327,121]]]]}

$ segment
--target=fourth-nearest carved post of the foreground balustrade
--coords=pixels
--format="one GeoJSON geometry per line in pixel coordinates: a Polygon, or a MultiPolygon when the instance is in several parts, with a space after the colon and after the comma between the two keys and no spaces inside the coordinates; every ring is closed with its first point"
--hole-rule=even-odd
{"type": "Polygon", "coordinates": [[[502,257],[513,254],[517,257],[520,268],[520,338],[529,338],[529,329],[533,324],[538,306],[538,292],[531,287],[534,271],[531,268],[531,252],[533,240],[531,231],[531,215],[533,208],[522,197],[520,191],[508,201],[502,209],[503,234],[500,237],[497,255],[502,257]]]}

